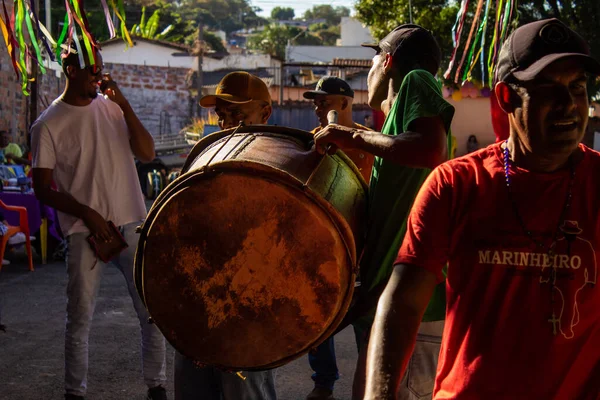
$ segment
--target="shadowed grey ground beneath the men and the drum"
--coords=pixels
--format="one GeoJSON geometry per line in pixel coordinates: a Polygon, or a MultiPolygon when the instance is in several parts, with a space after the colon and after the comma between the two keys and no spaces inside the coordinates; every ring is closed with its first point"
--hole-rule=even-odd
{"type": "MultiPolygon", "coordinates": [[[[22,254],[0,272],[0,400],[63,399],[66,272],[64,263],[36,264],[22,254]]],[[[139,325],[121,273],[104,271],[90,336],[90,400],[142,400],[139,325]]],[[[335,398],[350,399],[356,363],[351,329],[336,337],[340,380],[335,398]]],[[[173,349],[168,348],[169,398],[173,398],[173,349]]],[[[280,400],[303,400],[312,389],[306,356],[277,369],[280,400]]]]}

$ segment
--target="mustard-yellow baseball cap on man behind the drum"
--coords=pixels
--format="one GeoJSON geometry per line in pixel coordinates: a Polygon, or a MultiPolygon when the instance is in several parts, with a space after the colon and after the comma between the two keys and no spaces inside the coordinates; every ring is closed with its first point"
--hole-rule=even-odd
{"type": "Polygon", "coordinates": [[[221,79],[215,94],[203,96],[200,99],[202,107],[214,107],[217,99],[229,103],[244,104],[253,100],[262,100],[271,104],[269,88],[258,76],[248,72],[231,72],[221,79]]]}

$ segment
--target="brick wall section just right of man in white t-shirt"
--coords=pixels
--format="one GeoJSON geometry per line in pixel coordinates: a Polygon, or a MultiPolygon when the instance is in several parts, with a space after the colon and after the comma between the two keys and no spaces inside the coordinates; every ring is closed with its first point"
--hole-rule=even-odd
{"type": "Polygon", "coordinates": [[[186,85],[187,69],[107,63],[104,70],[153,135],[177,133],[189,122],[193,103],[186,85]]]}

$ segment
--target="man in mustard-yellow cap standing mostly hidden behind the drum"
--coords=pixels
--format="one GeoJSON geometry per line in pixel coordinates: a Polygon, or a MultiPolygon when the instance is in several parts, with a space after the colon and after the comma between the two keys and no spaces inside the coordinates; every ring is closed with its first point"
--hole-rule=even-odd
{"type": "MultiPolygon", "coordinates": [[[[227,74],[214,95],[204,96],[200,105],[215,108],[221,129],[266,124],[271,116],[267,85],[247,72],[227,74]]],[[[275,400],[273,371],[243,371],[245,379],[214,367],[198,367],[175,352],[175,400],[275,400]]]]}

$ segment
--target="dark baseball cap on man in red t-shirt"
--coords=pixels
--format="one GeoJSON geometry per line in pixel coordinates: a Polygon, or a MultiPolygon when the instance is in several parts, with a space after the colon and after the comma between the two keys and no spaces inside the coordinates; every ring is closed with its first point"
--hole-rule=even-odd
{"type": "Polygon", "coordinates": [[[496,80],[513,76],[529,81],[567,57],[578,58],[587,72],[600,75],[600,63],[590,56],[589,45],[577,32],[556,18],[531,22],[517,28],[502,45],[496,80]]]}

